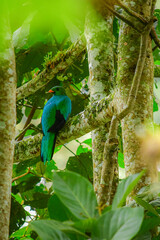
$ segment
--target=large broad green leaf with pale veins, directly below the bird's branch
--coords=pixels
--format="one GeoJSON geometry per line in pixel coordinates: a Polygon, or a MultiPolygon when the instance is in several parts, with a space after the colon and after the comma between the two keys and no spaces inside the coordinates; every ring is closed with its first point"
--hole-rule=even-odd
{"type": "Polygon", "coordinates": [[[97,200],[92,184],[74,172],[54,172],[53,188],[61,202],[78,219],[98,214],[97,200]]]}

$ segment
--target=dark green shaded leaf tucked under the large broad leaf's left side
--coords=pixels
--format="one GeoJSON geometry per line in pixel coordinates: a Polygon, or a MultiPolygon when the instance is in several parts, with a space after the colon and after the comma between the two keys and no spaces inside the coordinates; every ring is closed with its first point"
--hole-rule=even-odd
{"type": "Polygon", "coordinates": [[[54,220],[63,222],[75,219],[55,194],[48,201],[48,212],[50,218],[54,220]]]}

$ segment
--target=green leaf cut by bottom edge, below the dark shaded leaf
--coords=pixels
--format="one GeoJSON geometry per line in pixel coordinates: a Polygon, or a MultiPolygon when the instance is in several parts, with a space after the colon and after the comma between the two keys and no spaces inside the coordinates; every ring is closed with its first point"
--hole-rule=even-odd
{"type": "Polygon", "coordinates": [[[85,236],[84,233],[70,226],[70,224],[58,222],[55,220],[38,220],[33,221],[30,227],[43,240],[69,240],[65,233],[75,233],[85,236]]]}

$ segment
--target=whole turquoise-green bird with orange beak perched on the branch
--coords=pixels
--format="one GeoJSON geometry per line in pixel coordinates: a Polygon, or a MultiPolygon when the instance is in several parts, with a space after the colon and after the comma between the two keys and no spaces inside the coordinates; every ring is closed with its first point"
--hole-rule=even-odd
{"type": "Polygon", "coordinates": [[[54,95],[44,106],[41,120],[43,131],[41,159],[44,164],[52,159],[57,133],[64,126],[72,108],[71,100],[66,96],[63,87],[53,87],[49,92],[54,95]]]}

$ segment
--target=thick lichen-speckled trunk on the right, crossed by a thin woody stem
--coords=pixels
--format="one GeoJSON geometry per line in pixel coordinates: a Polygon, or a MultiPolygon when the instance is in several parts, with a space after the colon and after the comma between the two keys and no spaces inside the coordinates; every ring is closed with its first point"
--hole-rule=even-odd
{"type": "MultiPolygon", "coordinates": [[[[152,1],[134,0],[132,2],[123,1],[132,10],[140,13],[144,18],[151,17],[152,1]]],[[[130,26],[121,23],[119,37],[119,56],[118,56],[118,100],[119,112],[126,107],[132,84],[140,46],[140,35],[130,26]]],[[[140,172],[144,167],[140,153],[140,140],[137,131],[142,127],[146,120],[152,120],[153,109],[153,56],[151,40],[147,48],[145,66],[138,90],[138,96],[132,113],[128,114],[122,121],[122,134],[124,146],[124,159],[126,175],[140,172]]],[[[156,169],[155,169],[156,171],[156,169]]],[[[143,186],[151,183],[151,175],[145,176],[140,181],[136,192],[143,186]]]]}

